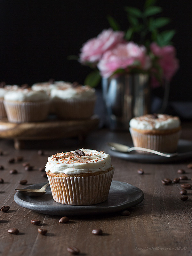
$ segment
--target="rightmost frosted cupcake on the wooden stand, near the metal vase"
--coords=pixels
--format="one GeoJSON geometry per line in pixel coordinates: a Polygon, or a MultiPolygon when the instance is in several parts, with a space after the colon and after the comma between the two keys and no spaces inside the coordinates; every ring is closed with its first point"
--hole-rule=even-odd
{"type": "Polygon", "coordinates": [[[61,119],[86,119],[94,112],[95,89],[88,85],[58,85],[51,91],[56,115],[61,119]]]}

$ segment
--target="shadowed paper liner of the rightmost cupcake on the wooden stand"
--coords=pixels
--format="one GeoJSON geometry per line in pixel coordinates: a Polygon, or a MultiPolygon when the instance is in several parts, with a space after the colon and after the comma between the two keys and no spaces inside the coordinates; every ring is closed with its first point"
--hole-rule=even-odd
{"type": "Polygon", "coordinates": [[[94,99],[54,100],[55,114],[61,119],[86,119],[94,113],[94,99]]]}

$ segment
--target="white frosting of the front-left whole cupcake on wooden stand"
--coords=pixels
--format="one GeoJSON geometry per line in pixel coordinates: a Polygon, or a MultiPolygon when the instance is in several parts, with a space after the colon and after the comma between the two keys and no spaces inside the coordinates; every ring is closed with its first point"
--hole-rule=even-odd
{"type": "Polygon", "coordinates": [[[12,101],[39,101],[48,99],[49,96],[45,91],[34,91],[31,88],[8,91],[4,95],[4,100],[12,101]]]}

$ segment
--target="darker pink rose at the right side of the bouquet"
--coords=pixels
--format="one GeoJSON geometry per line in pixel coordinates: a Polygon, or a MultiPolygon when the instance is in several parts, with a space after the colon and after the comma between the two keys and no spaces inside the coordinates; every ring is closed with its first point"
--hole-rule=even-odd
{"type": "MultiPolygon", "coordinates": [[[[159,57],[158,64],[163,70],[162,78],[170,81],[179,68],[175,47],[172,45],[160,47],[156,43],[152,43],[150,49],[155,56],[159,57]]],[[[159,85],[159,82],[153,77],[152,86],[155,88],[159,85]]]]}

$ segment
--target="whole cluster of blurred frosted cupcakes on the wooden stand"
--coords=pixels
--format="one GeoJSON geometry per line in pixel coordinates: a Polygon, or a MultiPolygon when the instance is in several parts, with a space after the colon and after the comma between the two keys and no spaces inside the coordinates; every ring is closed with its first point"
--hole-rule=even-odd
{"type": "Polygon", "coordinates": [[[77,82],[49,81],[0,88],[0,118],[11,123],[45,121],[49,114],[60,119],[87,119],[93,115],[95,89],[77,82]]]}

